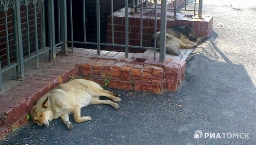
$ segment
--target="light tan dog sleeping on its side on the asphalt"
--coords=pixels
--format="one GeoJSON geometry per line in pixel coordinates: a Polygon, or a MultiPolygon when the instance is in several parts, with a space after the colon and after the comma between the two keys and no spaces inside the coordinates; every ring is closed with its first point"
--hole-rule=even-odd
{"type": "Polygon", "coordinates": [[[85,79],[75,79],[50,90],[36,102],[30,112],[32,120],[45,128],[52,119],[61,117],[68,129],[73,128],[69,121],[69,114],[74,115],[75,122],[91,120],[90,116],[80,115],[81,108],[89,104],[110,104],[120,109],[117,103],[110,100],[100,100],[99,96],[106,96],[114,102],[121,99],[110,91],[104,90],[99,84],[85,79]]]}

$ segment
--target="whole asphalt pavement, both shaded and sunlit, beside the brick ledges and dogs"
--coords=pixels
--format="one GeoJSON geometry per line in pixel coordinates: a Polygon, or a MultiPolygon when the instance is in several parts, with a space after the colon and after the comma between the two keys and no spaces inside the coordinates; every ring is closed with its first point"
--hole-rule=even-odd
{"type": "Polygon", "coordinates": [[[71,131],[61,119],[48,128],[30,120],[0,144],[255,145],[256,8],[204,4],[203,14],[213,15],[213,32],[187,61],[177,91],[108,89],[122,99],[120,110],[84,107],[81,114],[92,120],[75,123],[70,116],[71,131]]]}

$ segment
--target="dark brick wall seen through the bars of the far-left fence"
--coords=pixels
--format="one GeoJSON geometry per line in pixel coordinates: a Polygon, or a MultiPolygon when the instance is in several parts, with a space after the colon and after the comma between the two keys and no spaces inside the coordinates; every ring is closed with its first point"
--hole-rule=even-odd
{"type": "MultiPolygon", "coordinates": [[[[33,4],[29,3],[28,6],[29,15],[29,41],[31,53],[35,51],[35,27],[34,27],[34,10],[33,4]]],[[[27,29],[26,29],[26,6],[20,6],[20,17],[21,17],[21,29],[22,29],[22,40],[23,40],[23,55],[28,55],[28,41],[27,41],[27,29]]],[[[40,48],[40,28],[41,28],[41,13],[37,9],[37,22],[38,22],[38,45],[40,48]]],[[[12,9],[7,11],[8,21],[8,33],[9,33],[9,55],[10,61],[15,61],[15,46],[14,46],[14,29],[13,29],[13,15],[12,9]]],[[[6,50],[6,26],[5,26],[5,12],[0,11],[0,57],[1,67],[7,64],[7,50],[6,50]]]]}

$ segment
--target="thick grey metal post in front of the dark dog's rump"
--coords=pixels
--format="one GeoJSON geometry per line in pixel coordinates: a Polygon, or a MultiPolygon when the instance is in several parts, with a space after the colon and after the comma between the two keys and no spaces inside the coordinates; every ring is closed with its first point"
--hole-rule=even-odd
{"type": "Polygon", "coordinates": [[[161,28],[160,28],[160,61],[165,61],[166,18],[167,18],[167,0],[162,0],[162,3],[161,3],[161,28]]]}

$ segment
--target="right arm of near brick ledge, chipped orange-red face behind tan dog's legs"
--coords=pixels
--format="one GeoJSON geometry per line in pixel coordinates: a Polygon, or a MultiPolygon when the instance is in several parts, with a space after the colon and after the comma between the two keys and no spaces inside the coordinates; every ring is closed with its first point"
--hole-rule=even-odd
{"type": "Polygon", "coordinates": [[[131,59],[113,60],[112,58],[94,58],[90,62],[78,64],[82,76],[109,87],[129,90],[145,90],[160,93],[163,90],[174,91],[183,79],[186,62],[166,59],[159,62],[146,58],[146,54],[137,53],[131,59]]]}

